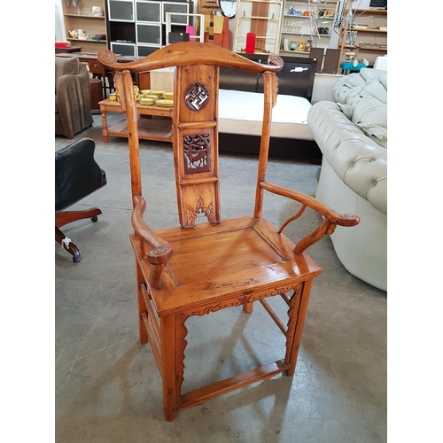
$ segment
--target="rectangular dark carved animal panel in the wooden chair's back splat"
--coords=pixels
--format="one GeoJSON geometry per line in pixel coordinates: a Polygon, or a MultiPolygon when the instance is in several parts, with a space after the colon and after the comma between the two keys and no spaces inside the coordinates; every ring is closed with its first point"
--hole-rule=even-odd
{"type": "Polygon", "coordinates": [[[184,173],[198,174],[211,171],[211,135],[183,136],[184,173]]]}

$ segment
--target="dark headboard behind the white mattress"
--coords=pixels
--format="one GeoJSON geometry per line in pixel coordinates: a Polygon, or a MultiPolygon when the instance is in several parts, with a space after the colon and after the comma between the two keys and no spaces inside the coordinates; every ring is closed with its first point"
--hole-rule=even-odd
{"type": "MultiPolygon", "coordinates": [[[[259,63],[267,63],[267,54],[242,54],[259,63]]],[[[278,77],[278,93],[287,96],[305,97],[309,102],[314,88],[316,59],[303,57],[282,57],[284,66],[278,77]]],[[[263,78],[260,74],[248,73],[235,68],[220,68],[220,88],[263,92],[263,78]]]]}

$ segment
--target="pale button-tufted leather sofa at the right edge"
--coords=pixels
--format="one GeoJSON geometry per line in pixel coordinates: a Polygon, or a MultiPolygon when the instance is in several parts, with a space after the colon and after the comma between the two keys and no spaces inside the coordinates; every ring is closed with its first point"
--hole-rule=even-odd
{"type": "Polygon", "coordinates": [[[315,197],[361,216],[330,237],[354,276],[387,291],[387,72],[363,68],[333,86],[335,102],[310,109],[307,125],[323,153],[315,197]]]}

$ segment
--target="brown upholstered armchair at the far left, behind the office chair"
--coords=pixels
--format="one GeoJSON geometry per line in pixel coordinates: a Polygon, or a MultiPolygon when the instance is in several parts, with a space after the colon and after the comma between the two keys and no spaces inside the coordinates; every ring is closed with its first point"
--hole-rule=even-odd
{"type": "Polygon", "coordinates": [[[55,135],[73,138],[92,125],[89,68],[76,57],[55,58],[55,135]]]}

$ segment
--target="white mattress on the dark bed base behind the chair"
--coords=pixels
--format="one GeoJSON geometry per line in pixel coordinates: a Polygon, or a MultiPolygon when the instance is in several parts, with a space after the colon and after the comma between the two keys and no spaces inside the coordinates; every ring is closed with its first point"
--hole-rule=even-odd
{"type": "MultiPolygon", "coordinates": [[[[271,136],[314,140],[307,127],[311,104],[304,97],[279,95],[272,110],[271,136]]],[[[261,135],[263,94],[219,89],[219,132],[261,135]]]]}

